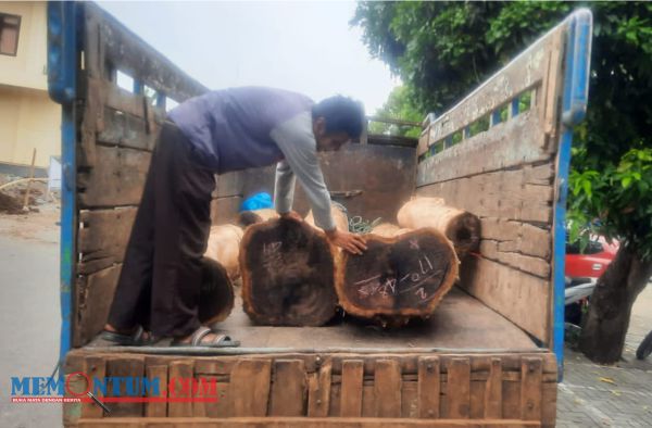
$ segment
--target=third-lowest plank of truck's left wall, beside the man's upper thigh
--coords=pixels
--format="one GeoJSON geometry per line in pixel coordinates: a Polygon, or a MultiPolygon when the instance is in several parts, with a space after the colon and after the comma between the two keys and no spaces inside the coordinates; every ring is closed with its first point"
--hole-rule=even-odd
{"type": "Polygon", "coordinates": [[[104,146],[96,150],[102,162],[77,174],[79,209],[140,203],[151,153],[104,146]]]}

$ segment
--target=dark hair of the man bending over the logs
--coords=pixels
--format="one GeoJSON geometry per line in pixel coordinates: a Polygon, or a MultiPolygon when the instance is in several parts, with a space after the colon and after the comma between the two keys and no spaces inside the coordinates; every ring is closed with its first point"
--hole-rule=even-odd
{"type": "Polygon", "coordinates": [[[348,97],[327,98],[312,109],[313,118],[326,119],[326,133],[347,133],[351,139],[360,138],[364,110],[362,104],[348,97]]]}

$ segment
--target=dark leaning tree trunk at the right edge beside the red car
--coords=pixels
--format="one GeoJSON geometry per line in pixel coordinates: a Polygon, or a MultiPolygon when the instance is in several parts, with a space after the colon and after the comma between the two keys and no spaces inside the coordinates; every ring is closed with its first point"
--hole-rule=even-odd
{"type": "Polygon", "coordinates": [[[586,356],[599,364],[620,358],[631,306],[651,275],[652,261],[643,262],[635,249],[620,247],[591,295],[579,338],[579,349],[586,356]]]}

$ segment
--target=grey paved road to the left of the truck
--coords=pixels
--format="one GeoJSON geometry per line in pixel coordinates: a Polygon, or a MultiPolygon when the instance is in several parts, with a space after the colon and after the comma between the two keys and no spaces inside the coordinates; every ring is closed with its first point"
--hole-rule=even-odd
{"type": "Polygon", "coordinates": [[[12,376],[50,376],[59,357],[59,238],[55,212],[26,224],[0,216],[0,426],[61,426],[61,404],[12,404],[12,376]],[[28,229],[25,229],[25,228],[28,229]]]}

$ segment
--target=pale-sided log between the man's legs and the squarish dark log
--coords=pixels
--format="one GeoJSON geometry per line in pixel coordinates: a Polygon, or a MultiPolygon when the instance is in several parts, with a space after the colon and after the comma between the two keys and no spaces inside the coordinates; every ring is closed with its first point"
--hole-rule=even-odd
{"type": "Polygon", "coordinates": [[[238,255],[242,235],[242,229],[236,225],[212,226],[209,235],[204,257],[220,262],[231,280],[240,277],[238,255]]]}

